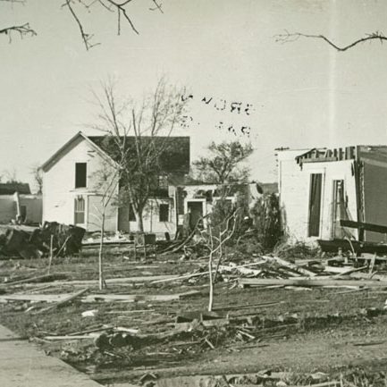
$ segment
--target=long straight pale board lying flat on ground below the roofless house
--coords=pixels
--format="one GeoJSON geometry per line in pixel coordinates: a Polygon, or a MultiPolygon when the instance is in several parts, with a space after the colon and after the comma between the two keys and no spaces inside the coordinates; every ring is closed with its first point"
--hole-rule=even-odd
{"type": "Polygon", "coordinates": [[[277,279],[256,279],[256,278],[240,278],[239,284],[245,286],[266,286],[266,285],[282,285],[282,286],[367,286],[367,287],[383,287],[387,288],[387,282],[375,281],[375,280],[277,280],[277,279]]]}

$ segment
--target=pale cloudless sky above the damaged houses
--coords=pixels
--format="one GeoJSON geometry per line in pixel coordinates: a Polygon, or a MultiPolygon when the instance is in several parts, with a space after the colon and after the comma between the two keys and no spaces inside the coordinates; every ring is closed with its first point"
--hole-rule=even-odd
{"type": "MultiPolygon", "coordinates": [[[[385,144],[387,44],[355,46],[339,53],[320,40],[288,44],[273,36],[290,32],[324,34],[347,45],[375,30],[387,34],[383,0],[163,0],[128,7],[135,35],[116,16],[80,13],[100,46],[86,51],[62,0],[0,2],[0,29],[29,21],[38,36],[0,35],[0,172],[15,170],[31,182],[29,168],[42,164],[77,131],[92,134],[97,108],[90,89],[108,77],[122,92],[140,96],[165,75],[192,91],[191,158],[211,140],[235,139],[227,130],[249,126],[255,147],[251,178],[275,181],[275,147],[385,144]],[[213,97],[226,110],[200,102],[213,97]],[[231,102],[250,114],[226,113],[231,102]],[[222,121],[223,127],[218,123],[222,121]]],[[[190,120],[190,119],[189,119],[190,120]]],[[[241,137],[246,139],[246,137],[241,137]]]]}

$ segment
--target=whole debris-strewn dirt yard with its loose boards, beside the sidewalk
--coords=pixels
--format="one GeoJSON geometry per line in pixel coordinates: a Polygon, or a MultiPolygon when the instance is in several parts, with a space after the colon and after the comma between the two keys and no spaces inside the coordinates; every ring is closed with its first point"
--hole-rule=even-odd
{"type": "MultiPolygon", "coordinates": [[[[105,385],[387,385],[387,282],[241,287],[303,274],[229,257],[207,313],[206,258],[180,257],[139,262],[110,249],[103,291],[93,249],[56,259],[50,276],[47,259],[1,260],[0,324],[105,385]]],[[[318,278],[322,265],[305,262],[318,278]]]]}

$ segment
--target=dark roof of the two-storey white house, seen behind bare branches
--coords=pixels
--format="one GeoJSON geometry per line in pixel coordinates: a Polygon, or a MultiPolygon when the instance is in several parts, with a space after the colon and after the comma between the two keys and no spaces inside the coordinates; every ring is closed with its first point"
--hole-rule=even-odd
{"type": "MultiPolygon", "coordinates": [[[[112,155],[113,138],[109,136],[88,136],[97,147],[100,147],[108,155],[112,155]]],[[[127,136],[127,147],[135,147],[135,137],[127,136]]],[[[156,136],[154,138],[143,136],[140,138],[145,143],[147,141],[155,141],[156,148],[164,147],[164,151],[160,155],[160,164],[164,172],[167,173],[189,173],[190,164],[190,147],[189,136],[156,136]]]]}

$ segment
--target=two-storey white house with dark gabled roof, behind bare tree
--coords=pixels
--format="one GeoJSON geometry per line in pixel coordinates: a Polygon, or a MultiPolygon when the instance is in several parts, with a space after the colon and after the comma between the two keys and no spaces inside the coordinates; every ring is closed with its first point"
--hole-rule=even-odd
{"type": "MultiPolygon", "coordinates": [[[[100,229],[103,192],[98,187],[97,172],[107,165],[114,175],[118,168],[105,139],[79,132],[42,165],[43,221],[75,224],[87,231],[100,229]]],[[[166,140],[172,147],[162,156],[163,173],[158,188],[147,200],[143,221],[144,231],[173,234],[177,217],[173,187],[189,173],[189,137],[166,140]]],[[[118,192],[119,181],[115,181],[114,195],[118,192]]],[[[131,206],[118,207],[111,200],[105,210],[105,231],[137,231],[131,206]]]]}

